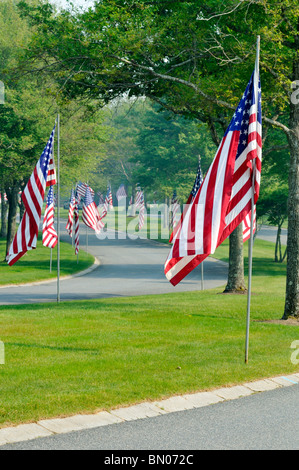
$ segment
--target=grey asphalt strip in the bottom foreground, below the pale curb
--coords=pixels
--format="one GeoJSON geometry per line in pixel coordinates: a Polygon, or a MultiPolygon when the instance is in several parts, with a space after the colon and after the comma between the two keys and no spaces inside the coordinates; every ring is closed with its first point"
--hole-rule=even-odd
{"type": "Polygon", "coordinates": [[[111,457],[109,450],[114,454],[117,450],[176,450],[173,453],[202,449],[298,450],[298,400],[299,385],[294,385],[203,408],[60,434],[0,449],[105,450],[102,458],[111,457]]]}

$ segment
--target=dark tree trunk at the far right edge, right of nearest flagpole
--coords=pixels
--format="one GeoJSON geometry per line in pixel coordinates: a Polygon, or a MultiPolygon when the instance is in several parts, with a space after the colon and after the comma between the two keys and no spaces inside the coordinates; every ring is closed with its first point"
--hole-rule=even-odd
{"type": "MultiPolygon", "coordinates": [[[[298,37],[299,41],[299,37],[298,37]]],[[[294,63],[294,80],[299,79],[299,59],[294,63]]],[[[290,102],[290,146],[287,279],[283,319],[299,319],[299,101],[290,102]]]]}

